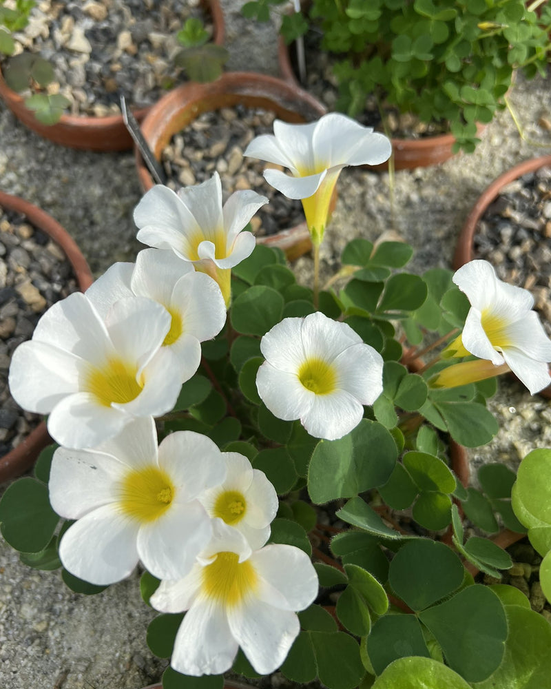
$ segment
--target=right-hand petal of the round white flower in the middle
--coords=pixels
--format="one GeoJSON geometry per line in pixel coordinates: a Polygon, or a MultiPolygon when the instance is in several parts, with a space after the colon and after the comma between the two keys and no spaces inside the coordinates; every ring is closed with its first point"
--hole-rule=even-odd
{"type": "Polygon", "coordinates": [[[337,387],[354,395],[362,404],[373,404],[383,391],[383,359],[378,351],[364,345],[351,345],[339,354],[337,387]]]}

